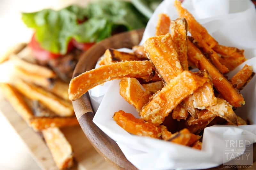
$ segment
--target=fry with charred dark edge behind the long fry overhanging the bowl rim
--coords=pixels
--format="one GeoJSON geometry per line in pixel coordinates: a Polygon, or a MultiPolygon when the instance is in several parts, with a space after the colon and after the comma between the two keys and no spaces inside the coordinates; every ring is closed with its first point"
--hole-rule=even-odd
{"type": "Polygon", "coordinates": [[[132,53],[126,53],[122,51],[118,51],[116,49],[108,48],[100,60],[99,64],[111,64],[121,61],[139,61],[141,58],[138,58],[136,55],[132,53]]]}

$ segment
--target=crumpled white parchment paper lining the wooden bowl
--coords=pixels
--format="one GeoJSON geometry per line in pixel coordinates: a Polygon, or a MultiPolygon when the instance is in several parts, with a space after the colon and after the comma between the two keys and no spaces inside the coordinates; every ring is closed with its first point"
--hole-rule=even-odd
{"type": "MultiPolygon", "coordinates": [[[[148,22],[141,44],[155,35],[159,13],[166,13],[173,20],[178,17],[173,3],[174,0],[165,0],[158,6],[148,22]]],[[[220,44],[245,50],[248,60],[231,71],[229,77],[242,69],[245,63],[252,65],[256,72],[256,11],[249,0],[186,0],[182,5],[220,44]]],[[[93,108],[97,110],[93,122],[117,142],[126,158],[139,169],[210,168],[224,163],[224,139],[228,136],[233,136],[235,140],[256,142],[255,77],[241,91],[246,101],[245,106],[236,110],[239,116],[249,119],[253,125],[215,125],[205,128],[201,151],[158,139],[134,136],[118,126],[112,119],[114,112],[118,110],[139,117],[134,107],[119,95],[119,81],[113,80],[90,90],[93,108]]]]}

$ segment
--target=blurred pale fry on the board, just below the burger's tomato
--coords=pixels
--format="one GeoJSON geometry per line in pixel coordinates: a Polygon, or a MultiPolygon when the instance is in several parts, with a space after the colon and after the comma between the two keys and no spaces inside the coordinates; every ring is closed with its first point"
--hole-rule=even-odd
{"type": "Polygon", "coordinates": [[[25,60],[22,60],[17,55],[11,55],[10,58],[14,62],[14,65],[16,67],[19,67],[20,69],[24,70],[27,73],[30,73],[32,75],[38,75],[38,76],[44,77],[44,78],[56,77],[56,74],[51,69],[48,69],[44,66],[29,63],[25,60]]]}

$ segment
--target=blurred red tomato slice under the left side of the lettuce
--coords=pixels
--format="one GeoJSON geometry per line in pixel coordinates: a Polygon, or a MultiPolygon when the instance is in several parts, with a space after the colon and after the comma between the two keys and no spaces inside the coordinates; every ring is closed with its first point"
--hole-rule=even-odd
{"type": "MultiPolygon", "coordinates": [[[[52,53],[52,52],[49,52],[49,51],[43,49],[40,46],[39,42],[36,41],[35,34],[32,36],[31,41],[29,42],[28,46],[32,49],[33,56],[38,60],[45,61],[45,60],[55,59],[55,58],[62,56],[62,54],[60,54],[60,53],[52,53]]],[[[70,50],[72,50],[73,48],[74,48],[74,46],[70,41],[68,43],[67,53],[70,50]]]]}

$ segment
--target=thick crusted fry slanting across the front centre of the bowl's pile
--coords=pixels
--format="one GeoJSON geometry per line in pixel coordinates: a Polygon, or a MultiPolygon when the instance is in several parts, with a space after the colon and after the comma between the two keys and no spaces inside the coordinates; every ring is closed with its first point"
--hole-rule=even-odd
{"type": "Polygon", "coordinates": [[[189,71],[183,71],[164,86],[161,92],[142,109],[140,116],[145,121],[161,124],[172,109],[208,80],[189,71]]]}

